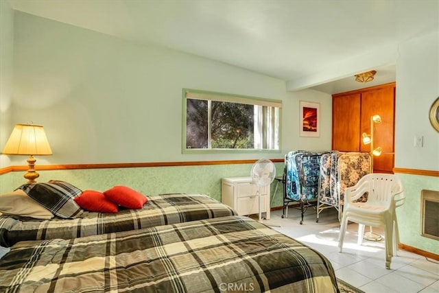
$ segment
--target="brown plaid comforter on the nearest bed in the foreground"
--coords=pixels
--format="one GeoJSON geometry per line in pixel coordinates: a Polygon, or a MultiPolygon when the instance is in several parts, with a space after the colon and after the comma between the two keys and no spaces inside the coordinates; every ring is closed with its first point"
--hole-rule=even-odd
{"type": "Polygon", "coordinates": [[[0,276],[0,292],[338,292],[324,256],[241,216],[20,242],[0,276]]]}

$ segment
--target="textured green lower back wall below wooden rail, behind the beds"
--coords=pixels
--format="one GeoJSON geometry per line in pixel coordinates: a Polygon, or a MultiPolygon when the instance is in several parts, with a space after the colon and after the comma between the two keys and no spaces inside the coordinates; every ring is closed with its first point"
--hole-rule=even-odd
{"type": "MultiPolygon", "coordinates": [[[[283,163],[275,163],[276,175],[282,176],[283,163]]],[[[208,194],[221,200],[221,178],[250,176],[252,164],[200,165],[187,167],[132,167],[117,169],[72,169],[40,171],[38,182],[65,180],[82,190],[105,191],[115,185],[126,185],[147,196],[169,193],[208,194]]],[[[24,184],[23,172],[0,176],[0,193],[24,184]]],[[[274,196],[276,181],[272,184],[274,196]]],[[[273,201],[273,207],[282,206],[282,185],[273,201]]]]}

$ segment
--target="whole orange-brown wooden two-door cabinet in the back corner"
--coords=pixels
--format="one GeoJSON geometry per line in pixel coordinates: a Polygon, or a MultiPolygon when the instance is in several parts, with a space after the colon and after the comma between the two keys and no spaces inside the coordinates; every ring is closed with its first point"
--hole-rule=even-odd
{"type": "Polygon", "coordinates": [[[394,167],[395,83],[333,95],[332,149],[343,152],[370,152],[361,134],[370,134],[370,117],[381,116],[374,124],[374,147],[381,146],[381,156],[374,156],[374,172],[393,173],[394,167]]]}

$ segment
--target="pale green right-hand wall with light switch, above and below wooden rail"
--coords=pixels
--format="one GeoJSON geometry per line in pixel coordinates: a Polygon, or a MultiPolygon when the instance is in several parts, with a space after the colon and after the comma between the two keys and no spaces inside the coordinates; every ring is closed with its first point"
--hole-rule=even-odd
{"type": "MultiPolygon", "coordinates": [[[[395,167],[439,172],[439,134],[429,109],[439,95],[439,31],[399,46],[396,64],[395,167]],[[423,137],[423,147],[414,137],[423,137]]],[[[401,242],[439,255],[438,241],[420,235],[420,191],[439,191],[439,177],[399,174],[407,202],[397,210],[401,242]]]]}

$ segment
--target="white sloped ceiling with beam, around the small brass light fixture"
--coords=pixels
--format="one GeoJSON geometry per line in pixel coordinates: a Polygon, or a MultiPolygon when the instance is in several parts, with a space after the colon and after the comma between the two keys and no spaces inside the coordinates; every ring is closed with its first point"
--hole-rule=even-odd
{"type": "Polygon", "coordinates": [[[439,27],[439,0],[10,1],[14,10],[340,93],[395,81],[398,44],[439,27]],[[378,56],[374,58],[374,56],[378,56]],[[377,60],[377,61],[372,61],[377,60]],[[376,70],[375,80],[353,74],[376,70]]]}

